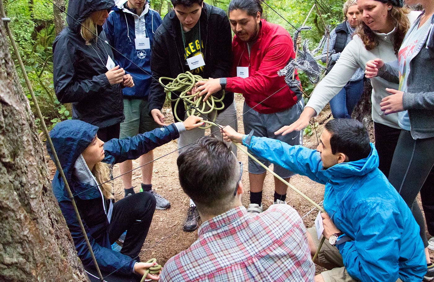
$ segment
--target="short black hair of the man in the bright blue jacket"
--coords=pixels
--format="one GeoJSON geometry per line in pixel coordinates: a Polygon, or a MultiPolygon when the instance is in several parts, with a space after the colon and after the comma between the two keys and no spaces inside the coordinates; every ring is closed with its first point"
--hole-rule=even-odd
{"type": "Polygon", "coordinates": [[[358,161],[371,153],[369,133],[360,121],[351,118],[335,118],[324,128],[332,135],[332,153],[343,153],[349,161],[358,161]]]}

